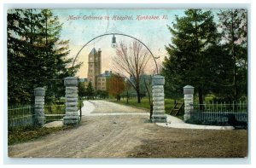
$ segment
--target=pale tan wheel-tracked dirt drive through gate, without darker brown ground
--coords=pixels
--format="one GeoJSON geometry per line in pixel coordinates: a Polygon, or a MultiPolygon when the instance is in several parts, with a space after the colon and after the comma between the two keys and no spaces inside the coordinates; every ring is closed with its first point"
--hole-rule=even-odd
{"type": "Polygon", "coordinates": [[[156,126],[148,123],[149,113],[143,109],[108,101],[90,103],[84,108],[93,110],[84,111],[78,128],[9,146],[9,157],[127,157],[156,126]]]}

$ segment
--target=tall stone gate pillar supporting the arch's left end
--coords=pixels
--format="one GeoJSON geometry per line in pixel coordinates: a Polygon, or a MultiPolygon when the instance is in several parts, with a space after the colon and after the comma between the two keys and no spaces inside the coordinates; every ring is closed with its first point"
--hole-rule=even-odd
{"type": "Polygon", "coordinates": [[[78,125],[78,78],[67,77],[64,79],[66,86],[66,116],[63,119],[64,125],[78,125]]]}

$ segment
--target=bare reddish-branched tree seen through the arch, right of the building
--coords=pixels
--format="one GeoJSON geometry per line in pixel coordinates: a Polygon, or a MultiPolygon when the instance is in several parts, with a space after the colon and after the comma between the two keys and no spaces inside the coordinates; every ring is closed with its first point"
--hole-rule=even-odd
{"type": "Polygon", "coordinates": [[[149,59],[148,50],[144,49],[143,44],[136,40],[129,46],[124,42],[120,42],[116,49],[116,55],[113,57],[113,70],[128,79],[137,92],[138,103],[141,102],[140,80],[146,70],[149,59]]]}

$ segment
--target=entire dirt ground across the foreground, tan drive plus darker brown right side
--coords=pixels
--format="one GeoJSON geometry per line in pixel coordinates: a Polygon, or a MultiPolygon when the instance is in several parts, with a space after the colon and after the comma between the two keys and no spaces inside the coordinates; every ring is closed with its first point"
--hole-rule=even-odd
{"type": "Polygon", "coordinates": [[[183,130],[148,123],[148,112],[92,101],[79,127],[9,146],[9,157],[245,157],[247,130],[183,130]],[[120,113],[134,113],[122,115],[120,113]],[[145,113],[145,114],[141,114],[145,113]]]}

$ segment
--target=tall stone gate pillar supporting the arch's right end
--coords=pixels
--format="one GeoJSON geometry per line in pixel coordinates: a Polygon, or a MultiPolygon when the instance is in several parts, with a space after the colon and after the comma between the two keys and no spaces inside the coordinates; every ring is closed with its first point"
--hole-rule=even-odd
{"type": "Polygon", "coordinates": [[[166,123],[165,114],[165,77],[154,75],[152,78],[153,115],[154,123],[166,123]]]}

